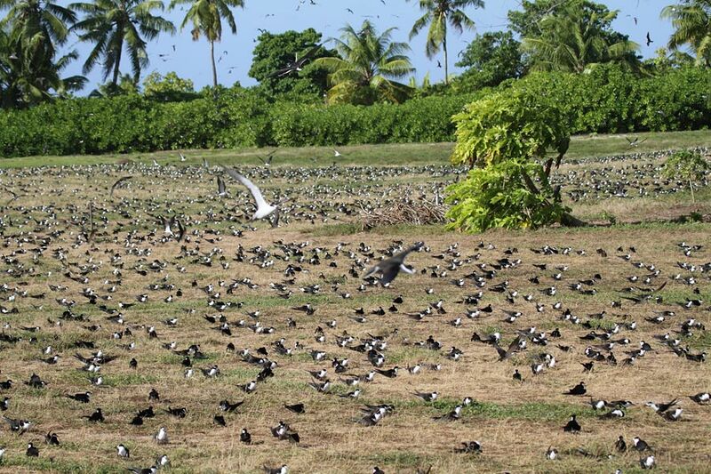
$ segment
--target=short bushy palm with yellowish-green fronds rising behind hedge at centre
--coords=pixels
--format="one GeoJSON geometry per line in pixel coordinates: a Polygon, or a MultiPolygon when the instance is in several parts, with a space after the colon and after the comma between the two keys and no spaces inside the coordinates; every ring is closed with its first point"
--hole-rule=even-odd
{"type": "Polygon", "coordinates": [[[331,38],[340,57],[314,60],[331,72],[329,102],[400,102],[410,94],[410,87],[388,78],[404,77],[414,71],[410,59],[403,54],[410,51],[410,46],[390,41],[395,29],[387,28],[378,35],[371,22],[365,20],[360,30],[347,25],[340,29],[340,39],[331,38]]]}

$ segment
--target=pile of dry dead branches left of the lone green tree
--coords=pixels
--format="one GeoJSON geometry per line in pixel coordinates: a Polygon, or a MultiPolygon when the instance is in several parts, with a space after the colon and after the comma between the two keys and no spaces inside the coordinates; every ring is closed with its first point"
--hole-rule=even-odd
{"type": "Polygon", "coordinates": [[[409,224],[422,226],[441,224],[445,221],[446,206],[432,201],[398,201],[392,205],[366,209],[361,205],[361,227],[363,230],[381,226],[409,224]]]}

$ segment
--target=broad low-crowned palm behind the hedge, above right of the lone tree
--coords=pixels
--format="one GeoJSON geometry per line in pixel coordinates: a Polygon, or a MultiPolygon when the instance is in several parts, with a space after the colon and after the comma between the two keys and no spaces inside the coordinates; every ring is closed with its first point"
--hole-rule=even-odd
{"type": "Polygon", "coordinates": [[[597,13],[592,12],[588,19],[578,4],[570,4],[563,11],[544,17],[540,35],[523,38],[522,49],[530,55],[531,69],[582,73],[611,61],[637,68],[635,52],[639,44],[600,27],[609,25],[617,13],[604,12],[597,18],[597,13]],[[614,43],[608,38],[614,38],[614,43]]]}

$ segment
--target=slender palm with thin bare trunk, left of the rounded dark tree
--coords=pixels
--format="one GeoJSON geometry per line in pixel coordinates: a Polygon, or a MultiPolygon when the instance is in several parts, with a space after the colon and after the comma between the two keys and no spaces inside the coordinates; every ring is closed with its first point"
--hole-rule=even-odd
{"type": "Polygon", "coordinates": [[[237,32],[235,17],[230,8],[244,8],[244,0],[172,0],[170,8],[177,4],[190,4],[190,9],[185,14],[180,29],[185,28],[188,21],[192,21],[193,41],[204,35],[210,42],[212,57],[212,85],[217,89],[217,66],[215,65],[215,42],[222,39],[222,19],[227,20],[232,34],[237,32]]]}

